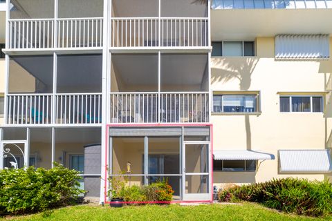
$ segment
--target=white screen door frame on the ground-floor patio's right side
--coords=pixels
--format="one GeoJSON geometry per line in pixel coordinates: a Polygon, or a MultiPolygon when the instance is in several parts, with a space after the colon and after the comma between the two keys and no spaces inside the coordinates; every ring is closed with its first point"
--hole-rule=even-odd
{"type": "Polygon", "coordinates": [[[182,173],[182,193],[183,200],[210,200],[211,199],[211,166],[210,166],[210,141],[185,141],[183,142],[183,173],[182,173]],[[186,173],[185,169],[185,147],[190,144],[206,144],[208,145],[208,172],[207,173],[186,173]],[[208,193],[185,193],[185,176],[186,175],[207,175],[208,176],[208,193]]]}

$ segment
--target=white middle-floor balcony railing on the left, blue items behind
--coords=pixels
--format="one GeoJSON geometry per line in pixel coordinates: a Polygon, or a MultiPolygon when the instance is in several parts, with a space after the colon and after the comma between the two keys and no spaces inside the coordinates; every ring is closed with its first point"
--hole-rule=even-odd
{"type": "MultiPolygon", "coordinates": [[[[10,94],[7,124],[53,124],[53,95],[10,94]]],[[[55,124],[100,124],[102,94],[56,94],[55,124]]]]}

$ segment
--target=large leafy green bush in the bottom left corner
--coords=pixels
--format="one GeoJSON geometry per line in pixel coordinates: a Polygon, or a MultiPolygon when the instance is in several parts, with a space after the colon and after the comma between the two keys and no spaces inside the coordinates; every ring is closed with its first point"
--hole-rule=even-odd
{"type": "Polygon", "coordinates": [[[53,169],[30,166],[0,170],[0,215],[44,211],[71,204],[84,191],[77,171],[55,164],[53,169]]]}

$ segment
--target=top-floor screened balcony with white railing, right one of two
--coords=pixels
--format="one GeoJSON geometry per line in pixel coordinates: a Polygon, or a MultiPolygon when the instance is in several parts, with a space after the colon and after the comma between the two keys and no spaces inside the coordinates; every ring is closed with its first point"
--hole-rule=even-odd
{"type": "Polygon", "coordinates": [[[112,8],[111,50],[209,46],[208,1],[114,0],[112,8]]]}

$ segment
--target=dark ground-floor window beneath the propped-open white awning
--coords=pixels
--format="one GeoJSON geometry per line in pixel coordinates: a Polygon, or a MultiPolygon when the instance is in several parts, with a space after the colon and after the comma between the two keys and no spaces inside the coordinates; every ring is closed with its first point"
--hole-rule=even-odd
{"type": "Polygon", "coordinates": [[[213,171],[256,171],[255,160],[213,160],[213,171]]]}

